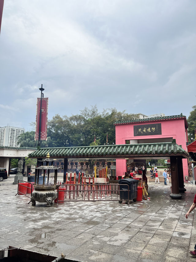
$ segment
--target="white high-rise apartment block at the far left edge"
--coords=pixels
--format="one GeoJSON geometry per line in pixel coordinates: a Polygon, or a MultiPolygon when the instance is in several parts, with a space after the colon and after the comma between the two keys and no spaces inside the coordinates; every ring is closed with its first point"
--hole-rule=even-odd
{"type": "Polygon", "coordinates": [[[0,146],[19,147],[18,136],[25,132],[21,127],[0,127],[0,146]]]}

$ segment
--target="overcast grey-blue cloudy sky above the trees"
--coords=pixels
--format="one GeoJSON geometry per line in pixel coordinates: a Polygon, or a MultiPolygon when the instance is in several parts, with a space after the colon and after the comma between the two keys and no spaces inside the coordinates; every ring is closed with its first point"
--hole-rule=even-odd
{"type": "Polygon", "coordinates": [[[196,1],[5,0],[0,126],[32,128],[97,104],[189,116],[196,104],[196,1]]]}

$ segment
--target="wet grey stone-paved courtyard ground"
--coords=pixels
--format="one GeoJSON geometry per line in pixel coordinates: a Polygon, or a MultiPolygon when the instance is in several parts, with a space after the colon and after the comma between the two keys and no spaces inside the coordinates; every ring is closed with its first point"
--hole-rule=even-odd
{"type": "MultiPolygon", "coordinates": [[[[196,218],[190,213],[196,187],[186,184],[181,200],[170,185],[149,183],[150,200],[66,202],[46,207],[15,196],[10,177],[0,186],[0,248],[9,245],[79,261],[194,261],[196,218]]],[[[27,178],[25,178],[27,180],[27,178]]],[[[58,179],[62,181],[62,177],[58,179]]]]}

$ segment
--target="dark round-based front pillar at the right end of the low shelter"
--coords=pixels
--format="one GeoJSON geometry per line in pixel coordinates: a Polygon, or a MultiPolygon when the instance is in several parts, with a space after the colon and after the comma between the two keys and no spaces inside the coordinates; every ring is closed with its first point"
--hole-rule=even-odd
{"type": "Polygon", "coordinates": [[[174,199],[181,199],[182,195],[179,194],[179,182],[178,182],[178,165],[177,157],[170,156],[171,166],[171,194],[170,197],[174,199]]]}

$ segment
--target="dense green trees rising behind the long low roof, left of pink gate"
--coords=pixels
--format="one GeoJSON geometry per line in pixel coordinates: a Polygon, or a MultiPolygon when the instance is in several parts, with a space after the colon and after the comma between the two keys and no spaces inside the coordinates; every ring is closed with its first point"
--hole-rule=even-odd
{"type": "MultiPolygon", "coordinates": [[[[42,141],[41,147],[74,147],[89,146],[94,144],[103,145],[108,139],[108,143],[115,143],[116,121],[128,121],[134,119],[134,114],[125,111],[117,111],[111,108],[98,112],[97,106],[85,107],[77,115],[59,114],[48,120],[47,141],[42,141]]],[[[19,136],[18,144],[21,147],[37,147],[35,131],[28,131],[19,136]]]]}

